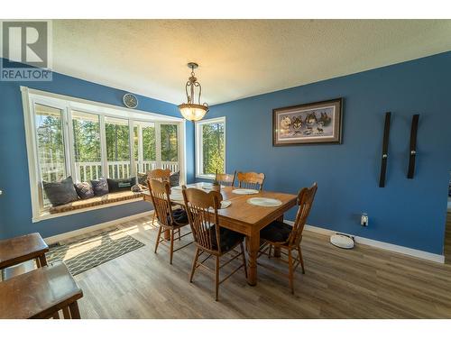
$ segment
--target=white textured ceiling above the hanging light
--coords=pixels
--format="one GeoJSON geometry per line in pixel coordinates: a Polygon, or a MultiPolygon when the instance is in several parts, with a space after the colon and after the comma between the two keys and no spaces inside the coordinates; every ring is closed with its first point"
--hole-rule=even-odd
{"type": "Polygon", "coordinates": [[[451,50],[451,20],[55,20],[53,68],[174,104],[196,61],[209,105],[451,50]]]}

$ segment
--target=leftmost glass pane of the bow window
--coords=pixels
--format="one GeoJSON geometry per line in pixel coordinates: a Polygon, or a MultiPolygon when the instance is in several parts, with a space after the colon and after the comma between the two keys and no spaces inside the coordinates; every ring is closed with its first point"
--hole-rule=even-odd
{"type": "MultiPolygon", "coordinates": [[[[62,111],[47,105],[34,105],[41,181],[54,182],[66,178],[62,111]]],[[[41,189],[43,206],[50,202],[41,189]]]]}

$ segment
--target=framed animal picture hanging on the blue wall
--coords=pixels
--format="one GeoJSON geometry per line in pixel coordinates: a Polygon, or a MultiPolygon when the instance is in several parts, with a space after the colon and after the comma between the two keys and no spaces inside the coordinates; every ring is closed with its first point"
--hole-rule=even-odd
{"type": "Polygon", "coordinates": [[[343,98],[272,110],[272,145],[342,142],[343,98]]]}

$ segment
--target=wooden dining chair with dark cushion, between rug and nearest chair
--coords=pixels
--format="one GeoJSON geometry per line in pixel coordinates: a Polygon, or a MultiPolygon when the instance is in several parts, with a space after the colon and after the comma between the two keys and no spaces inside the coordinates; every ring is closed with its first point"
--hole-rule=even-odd
{"type": "Polygon", "coordinates": [[[149,192],[152,198],[152,204],[155,209],[157,223],[159,224],[157,241],[155,243],[155,253],[157,253],[158,245],[170,242],[170,264],[175,251],[179,251],[187,247],[192,242],[180,246],[174,250],[174,233],[179,233],[179,240],[188,236],[191,232],[181,235],[182,227],[188,225],[188,216],[183,209],[172,209],[170,202],[170,183],[168,181],[159,181],[158,179],[149,179],[149,192]],[[164,232],[170,232],[170,239],[164,238],[164,232]]]}

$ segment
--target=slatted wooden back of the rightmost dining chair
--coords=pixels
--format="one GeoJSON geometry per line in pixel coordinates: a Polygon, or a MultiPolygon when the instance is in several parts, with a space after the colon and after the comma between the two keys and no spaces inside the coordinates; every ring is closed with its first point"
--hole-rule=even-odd
{"type": "Polygon", "coordinates": [[[315,182],[311,187],[303,187],[298,194],[298,213],[294,221],[293,230],[290,233],[289,245],[298,246],[302,239],[302,232],[310,214],[313,199],[317,193],[318,185],[315,182]]]}

